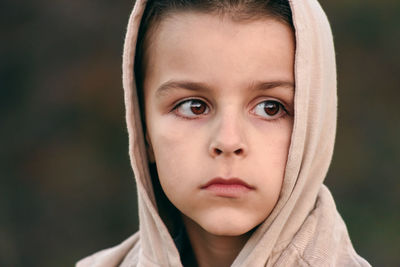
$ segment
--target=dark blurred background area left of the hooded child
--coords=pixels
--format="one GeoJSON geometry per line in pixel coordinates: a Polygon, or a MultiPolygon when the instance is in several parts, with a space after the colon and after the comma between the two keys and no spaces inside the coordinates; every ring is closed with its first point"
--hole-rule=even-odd
{"type": "Polygon", "coordinates": [[[0,3],[0,266],[72,266],[137,229],[120,67],[132,1],[0,3]]]}

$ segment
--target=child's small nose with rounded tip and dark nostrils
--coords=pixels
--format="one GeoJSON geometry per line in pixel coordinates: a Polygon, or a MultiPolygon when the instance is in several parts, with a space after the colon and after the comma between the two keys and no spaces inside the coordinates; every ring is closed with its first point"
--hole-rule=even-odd
{"type": "Polygon", "coordinates": [[[224,116],[217,120],[214,131],[211,131],[210,135],[209,153],[211,157],[245,157],[248,153],[245,132],[244,123],[237,117],[224,116]]]}

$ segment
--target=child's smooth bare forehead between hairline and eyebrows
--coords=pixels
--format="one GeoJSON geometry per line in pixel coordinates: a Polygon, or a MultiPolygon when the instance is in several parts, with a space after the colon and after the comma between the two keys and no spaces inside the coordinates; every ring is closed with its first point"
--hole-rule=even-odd
{"type": "Polygon", "coordinates": [[[227,86],[293,80],[294,33],[273,18],[237,22],[177,13],[157,25],[148,44],[145,81],[151,83],[180,79],[227,86]]]}

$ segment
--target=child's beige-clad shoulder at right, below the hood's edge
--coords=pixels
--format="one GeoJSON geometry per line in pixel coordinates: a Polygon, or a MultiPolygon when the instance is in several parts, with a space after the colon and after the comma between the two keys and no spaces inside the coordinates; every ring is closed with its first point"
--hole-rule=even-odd
{"type": "Polygon", "coordinates": [[[279,261],[284,264],[277,266],[371,266],[354,250],[347,227],[327,190],[321,191],[314,209],[279,261]]]}

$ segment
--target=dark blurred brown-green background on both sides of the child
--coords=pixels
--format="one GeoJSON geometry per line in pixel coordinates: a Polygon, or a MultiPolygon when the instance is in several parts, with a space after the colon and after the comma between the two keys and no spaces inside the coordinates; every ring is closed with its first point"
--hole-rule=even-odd
{"type": "MultiPolygon", "coordinates": [[[[400,1],[321,4],[339,85],[326,183],[359,254],[400,266],[400,1]]],[[[120,67],[132,5],[0,2],[0,266],[72,266],[137,230],[120,67]]]]}

